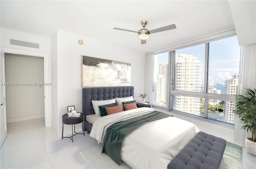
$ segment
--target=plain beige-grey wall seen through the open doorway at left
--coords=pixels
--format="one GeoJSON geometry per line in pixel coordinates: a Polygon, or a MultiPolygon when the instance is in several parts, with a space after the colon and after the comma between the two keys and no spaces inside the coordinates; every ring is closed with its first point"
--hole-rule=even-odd
{"type": "Polygon", "coordinates": [[[7,122],[44,117],[44,86],[23,83],[44,82],[44,58],[5,54],[7,122]],[[28,117],[29,116],[29,117],[28,117]]]}

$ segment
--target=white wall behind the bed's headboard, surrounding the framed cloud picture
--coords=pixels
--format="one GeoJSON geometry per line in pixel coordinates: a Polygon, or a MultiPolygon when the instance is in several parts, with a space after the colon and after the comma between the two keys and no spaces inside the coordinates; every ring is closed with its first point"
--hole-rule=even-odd
{"type": "MultiPolygon", "coordinates": [[[[67,106],[75,105],[75,109],[82,112],[82,55],[131,63],[134,98],[140,100],[138,95],[144,91],[144,52],[130,50],[62,30],[58,30],[57,39],[58,64],[57,70],[52,70],[52,72],[58,72],[59,135],[62,115],[67,113],[67,106]],[[83,45],[78,44],[80,39],[84,41],[83,45]]],[[[55,120],[52,119],[52,123],[56,123],[55,120]]],[[[79,131],[79,129],[81,128],[77,130],[79,131]]]]}

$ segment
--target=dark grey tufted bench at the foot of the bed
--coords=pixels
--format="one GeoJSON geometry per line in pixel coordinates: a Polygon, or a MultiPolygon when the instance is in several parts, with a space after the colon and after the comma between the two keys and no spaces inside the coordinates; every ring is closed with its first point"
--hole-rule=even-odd
{"type": "Polygon", "coordinates": [[[168,169],[218,169],[226,140],[202,131],[168,164],[168,169]]]}

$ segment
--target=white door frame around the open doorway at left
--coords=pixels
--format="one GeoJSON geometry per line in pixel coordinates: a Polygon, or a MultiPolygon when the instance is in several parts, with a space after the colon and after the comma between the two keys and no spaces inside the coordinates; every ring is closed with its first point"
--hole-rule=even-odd
{"type": "MultiPolygon", "coordinates": [[[[11,48],[1,48],[1,53],[20,54],[28,56],[36,56],[44,58],[44,83],[50,83],[50,67],[49,56],[46,53],[32,52],[26,50],[18,50],[11,48]]],[[[44,122],[45,127],[51,126],[51,111],[50,111],[50,86],[44,85],[44,122]]]]}

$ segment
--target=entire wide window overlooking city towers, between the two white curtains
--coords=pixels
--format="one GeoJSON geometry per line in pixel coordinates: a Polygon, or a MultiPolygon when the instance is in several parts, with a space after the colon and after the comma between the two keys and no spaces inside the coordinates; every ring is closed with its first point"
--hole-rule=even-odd
{"type": "Polygon", "coordinates": [[[239,63],[237,36],[156,54],[153,105],[234,124],[239,63]]]}

